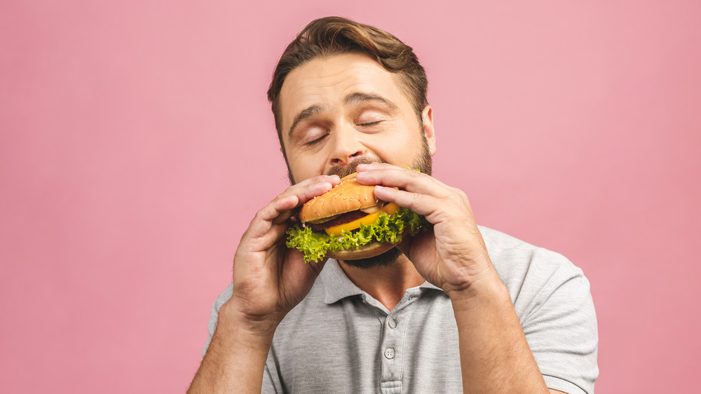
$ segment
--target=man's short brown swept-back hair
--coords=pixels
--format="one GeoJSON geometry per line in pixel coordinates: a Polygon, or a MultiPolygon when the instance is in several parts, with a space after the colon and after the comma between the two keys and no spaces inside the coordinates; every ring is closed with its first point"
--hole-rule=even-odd
{"type": "Polygon", "coordinates": [[[315,58],[344,53],[365,53],[376,59],[388,72],[397,73],[421,121],[421,111],[428,105],[428,80],[414,50],[392,34],[375,27],[346,18],[320,18],[306,25],[297,34],[297,38],[285,48],[268,89],[268,100],[275,116],[275,128],[278,129],[283,154],[285,146],[280,114],[280,89],[283,88],[287,74],[315,58]]]}

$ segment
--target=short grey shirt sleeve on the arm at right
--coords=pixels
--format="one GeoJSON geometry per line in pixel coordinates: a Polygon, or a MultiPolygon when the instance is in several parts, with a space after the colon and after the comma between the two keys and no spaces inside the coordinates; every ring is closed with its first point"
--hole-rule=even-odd
{"type": "Polygon", "coordinates": [[[594,393],[599,334],[590,283],[549,250],[533,253],[515,302],[526,340],[549,388],[594,393]],[[519,311],[520,310],[520,311],[519,311]]]}

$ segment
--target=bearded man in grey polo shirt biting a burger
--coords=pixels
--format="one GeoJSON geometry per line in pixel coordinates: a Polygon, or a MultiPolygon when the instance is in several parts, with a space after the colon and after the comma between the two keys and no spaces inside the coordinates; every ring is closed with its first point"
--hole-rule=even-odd
{"type": "Polygon", "coordinates": [[[593,392],[587,280],[478,227],[465,194],[430,177],[426,84],[411,48],[350,20],[290,43],[268,98],[292,186],[241,238],[191,393],[593,392]],[[305,264],[285,247],[297,208],[356,170],[430,229],[373,259],[305,264]]]}

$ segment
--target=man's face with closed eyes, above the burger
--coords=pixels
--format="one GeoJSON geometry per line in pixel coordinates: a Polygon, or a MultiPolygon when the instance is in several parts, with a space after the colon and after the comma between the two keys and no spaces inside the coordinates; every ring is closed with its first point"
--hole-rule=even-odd
{"type": "Polygon", "coordinates": [[[419,121],[404,89],[399,76],[362,54],[318,58],[292,70],[280,90],[290,180],[342,176],[372,161],[426,171],[428,159],[430,172],[433,112],[427,106],[419,121]]]}

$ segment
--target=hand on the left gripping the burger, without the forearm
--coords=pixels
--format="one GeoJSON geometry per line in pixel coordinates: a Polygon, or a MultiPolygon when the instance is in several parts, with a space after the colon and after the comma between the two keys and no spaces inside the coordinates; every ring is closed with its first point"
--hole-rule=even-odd
{"type": "Polygon", "coordinates": [[[321,175],[290,186],[243,233],[233,260],[233,296],[222,307],[241,329],[272,338],[280,320],[311,290],[326,259],[306,264],[301,252],[285,247],[285,231],[296,208],[339,181],[321,175]]]}

